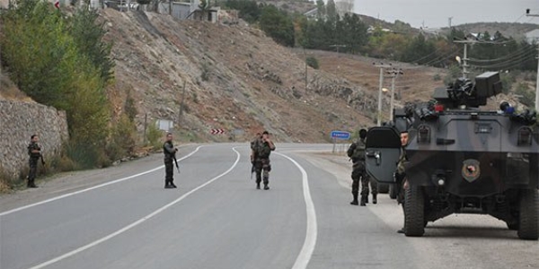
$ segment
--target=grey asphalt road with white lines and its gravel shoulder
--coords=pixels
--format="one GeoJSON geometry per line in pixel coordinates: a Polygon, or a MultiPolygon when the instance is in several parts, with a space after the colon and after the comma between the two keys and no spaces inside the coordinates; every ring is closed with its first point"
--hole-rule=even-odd
{"type": "Polygon", "coordinates": [[[177,189],[161,155],[59,175],[0,196],[0,269],[537,268],[537,241],[489,216],[395,231],[387,195],[349,205],[349,163],[331,145],[277,144],[270,190],[250,179],[246,144],[181,148],[177,189]]]}

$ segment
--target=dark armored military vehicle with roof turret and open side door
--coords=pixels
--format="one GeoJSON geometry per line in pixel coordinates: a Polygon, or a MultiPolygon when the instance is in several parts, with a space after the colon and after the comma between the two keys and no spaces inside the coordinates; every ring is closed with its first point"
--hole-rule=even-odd
{"type": "Polygon", "coordinates": [[[453,213],[490,214],[517,230],[520,239],[539,237],[539,127],[535,112],[480,107],[501,92],[499,74],[458,79],[437,89],[434,100],[412,106],[393,126],[367,132],[367,173],[394,184],[408,130],[409,187],[405,190],[405,234],[422,236],[429,221],[453,213]]]}

